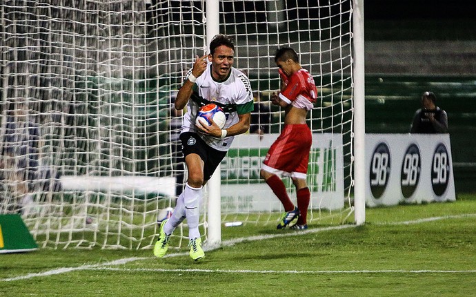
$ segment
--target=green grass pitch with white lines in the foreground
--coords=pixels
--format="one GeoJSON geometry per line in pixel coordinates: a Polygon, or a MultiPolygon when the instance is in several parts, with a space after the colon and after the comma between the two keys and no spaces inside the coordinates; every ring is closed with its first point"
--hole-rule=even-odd
{"type": "Polygon", "coordinates": [[[185,249],[1,254],[0,296],[476,296],[476,195],[367,209],[361,227],[222,233],[201,262],[185,249]]]}

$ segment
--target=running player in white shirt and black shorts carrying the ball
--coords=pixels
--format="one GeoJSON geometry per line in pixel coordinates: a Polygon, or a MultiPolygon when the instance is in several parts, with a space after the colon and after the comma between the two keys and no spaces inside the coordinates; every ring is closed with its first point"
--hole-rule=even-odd
{"type": "Polygon", "coordinates": [[[184,124],[180,140],[188,170],[184,192],[177,198],[175,211],[163,220],[154,255],[166,254],[170,235],[187,219],[190,257],[204,258],[199,231],[199,206],[202,188],[210,180],[231,146],[234,135],[246,133],[250,127],[253,97],[248,77],[233,66],[235,45],[227,35],[217,35],[210,42],[210,54],[195,59],[181,86],[175,108],[184,109],[184,124]],[[195,119],[201,106],[214,103],[223,108],[226,123],[223,129],[215,122],[211,126],[196,126],[195,119]]]}

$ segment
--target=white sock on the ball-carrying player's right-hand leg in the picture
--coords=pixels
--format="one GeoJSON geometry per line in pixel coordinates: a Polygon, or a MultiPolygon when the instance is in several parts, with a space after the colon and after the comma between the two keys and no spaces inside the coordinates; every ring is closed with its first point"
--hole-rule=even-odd
{"type": "Polygon", "coordinates": [[[185,213],[187,216],[187,224],[188,224],[188,238],[199,238],[200,231],[198,228],[199,220],[200,220],[200,201],[201,201],[201,189],[203,186],[199,188],[192,188],[188,184],[184,189],[184,202],[185,202],[185,213]]]}

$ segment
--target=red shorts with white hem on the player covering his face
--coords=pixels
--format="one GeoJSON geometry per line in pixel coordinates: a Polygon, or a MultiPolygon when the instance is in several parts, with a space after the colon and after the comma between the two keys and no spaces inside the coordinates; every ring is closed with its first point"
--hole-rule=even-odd
{"type": "Polygon", "coordinates": [[[306,178],[312,144],[313,135],[308,125],[284,126],[264,159],[263,169],[271,173],[306,178]]]}

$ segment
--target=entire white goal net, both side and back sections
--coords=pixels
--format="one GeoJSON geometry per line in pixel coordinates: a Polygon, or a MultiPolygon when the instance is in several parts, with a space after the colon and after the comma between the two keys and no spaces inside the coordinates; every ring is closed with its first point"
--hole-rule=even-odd
{"type": "MultiPolygon", "coordinates": [[[[277,224],[282,209],[259,166],[284,120],[269,102],[274,53],[291,46],[319,89],[308,221],[341,223],[352,209],[352,1],[218,5],[256,99],[250,133],[221,164],[221,221],[277,224]]],[[[4,1],[0,214],[21,213],[41,247],[150,248],[186,179],[173,100],[207,52],[206,18],[206,1],[4,1]]],[[[187,235],[184,224],[173,245],[187,235]]]]}

